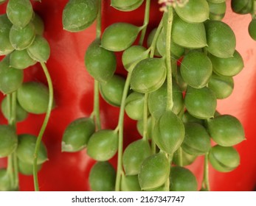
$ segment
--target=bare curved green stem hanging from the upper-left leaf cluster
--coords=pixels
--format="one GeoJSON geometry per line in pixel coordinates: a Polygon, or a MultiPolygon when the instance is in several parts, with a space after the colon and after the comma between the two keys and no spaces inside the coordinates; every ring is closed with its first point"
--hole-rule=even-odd
{"type": "Polygon", "coordinates": [[[34,163],[33,163],[33,177],[34,177],[34,187],[35,187],[35,191],[39,191],[39,185],[38,185],[38,152],[39,152],[39,148],[41,145],[41,141],[44,135],[44,131],[46,129],[46,126],[48,124],[49,121],[49,116],[51,114],[52,111],[52,104],[53,104],[53,87],[52,87],[52,79],[49,75],[49,71],[46,67],[46,64],[41,62],[41,67],[44,70],[44,74],[46,76],[47,79],[47,83],[48,83],[48,88],[49,88],[49,102],[48,102],[48,107],[46,110],[46,116],[44,117],[44,122],[41,126],[40,132],[38,134],[38,138],[37,141],[35,143],[35,153],[34,153],[34,163]]]}

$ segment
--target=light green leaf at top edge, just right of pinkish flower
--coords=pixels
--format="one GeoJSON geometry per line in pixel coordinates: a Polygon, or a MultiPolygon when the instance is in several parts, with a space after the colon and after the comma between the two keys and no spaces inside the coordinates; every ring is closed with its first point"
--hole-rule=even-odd
{"type": "Polygon", "coordinates": [[[179,17],[188,23],[201,23],[209,18],[209,5],[205,0],[190,0],[184,7],[175,7],[179,17]]]}

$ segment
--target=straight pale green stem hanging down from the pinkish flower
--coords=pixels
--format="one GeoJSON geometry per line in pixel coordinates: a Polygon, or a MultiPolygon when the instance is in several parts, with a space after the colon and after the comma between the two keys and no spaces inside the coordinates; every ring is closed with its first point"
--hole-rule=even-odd
{"type": "Polygon", "coordinates": [[[170,40],[171,40],[171,31],[173,24],[173,8],[167,8],[167,31],[166,31],[166,68],[167,68],[167,106],[166,110],[172,110],[173,108],[173,79],[172,79],[172,65],[170,57],[170,40]]]}

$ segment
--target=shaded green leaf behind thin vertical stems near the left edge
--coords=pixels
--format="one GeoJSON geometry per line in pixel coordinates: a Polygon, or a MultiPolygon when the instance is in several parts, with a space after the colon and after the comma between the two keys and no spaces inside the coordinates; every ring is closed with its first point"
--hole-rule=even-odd
{"type": "MultiPolygon", "coordinates": [[[[5,97],[1,101],[1,113],[3,113],[4,117],[7,119],[10,119],[10,116],[8,114],[8,105],[7,105],[7,98],[5,97]]],[[[16,101],[16,121],[24,121],[28,116],[27,111],[25,111],[20,104],[18,104],[18,101],[16,101]]]]}

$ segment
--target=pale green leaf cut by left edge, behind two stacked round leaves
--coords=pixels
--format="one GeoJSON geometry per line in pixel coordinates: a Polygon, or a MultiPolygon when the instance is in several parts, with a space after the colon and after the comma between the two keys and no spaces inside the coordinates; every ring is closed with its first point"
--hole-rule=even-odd
{"type": "Polygon", "coordinates": [[[14,50],[9,39],[11,27],[12,23],[7,18],[7,15],[0,15],[0,56],[7,55],[14,50]]]}

